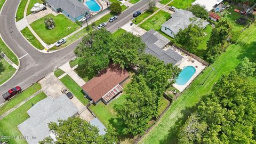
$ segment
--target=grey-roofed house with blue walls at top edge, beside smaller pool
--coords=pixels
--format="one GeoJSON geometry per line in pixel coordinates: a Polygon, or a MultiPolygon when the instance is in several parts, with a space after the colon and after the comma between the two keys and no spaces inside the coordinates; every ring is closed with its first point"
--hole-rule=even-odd
{"type": "Polygon", "coordinates": [[[64,13],[72,21],[92,16],[90,9],[78,0],[46,0],[46,2],[53,11],[64,13]]]}

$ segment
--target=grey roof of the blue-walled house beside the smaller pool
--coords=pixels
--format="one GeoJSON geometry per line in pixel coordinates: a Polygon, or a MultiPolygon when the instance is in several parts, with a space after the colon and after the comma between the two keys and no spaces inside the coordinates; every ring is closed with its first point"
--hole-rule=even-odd
{"type": "Polygon", "coordinates": [[[55,9],[62,9],[73,18],[90,11],[88,7],[78,0],[47,0],[47,2],[55,9]]]}

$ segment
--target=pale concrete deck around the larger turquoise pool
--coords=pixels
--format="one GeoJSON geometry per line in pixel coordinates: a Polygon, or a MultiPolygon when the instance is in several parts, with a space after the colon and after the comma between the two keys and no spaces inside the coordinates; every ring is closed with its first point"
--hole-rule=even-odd
{"type": "Polygon", "coordinates": [[[177,52],[178,54],[180,54],[183,59],[180,63],[180,65],[178,66],[179,68],[183,69],[184,67],[187,66],[193,66],[196,69],[195,74],[188,80],[188,82],[185,85],[178,85],[178,84],[173,84],[173,86],[178,89],[180,92],[182,92],[183,90],[186,89],[186,87],[193,82],[193,80],[201,73],[202,70],[205,69],[205,65],[203,65],[201,62],[195,60],[194,58],[190,57],[189,55],[186,55],[185,53],[182,53],[180,50],[178,49],[173,49],[171,46],[167,47],[167,49],[172,49],[175,52],[177,52]],[[192,62],[194,61],[194,62],[192,62]],[[196,68],[197,67],[197,68],[196,68]]]}

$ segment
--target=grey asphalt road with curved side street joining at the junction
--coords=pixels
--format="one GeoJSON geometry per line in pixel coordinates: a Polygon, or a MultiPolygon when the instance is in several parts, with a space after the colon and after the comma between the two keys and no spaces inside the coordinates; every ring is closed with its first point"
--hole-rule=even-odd
{"type": "MultiPolygon", "coordinates": [[[[51,73],[55,68],[73,59],[75,57],[73,51],[76,45],[81,42],[81,39],[78,39],[64,49],[54,53],[41,53],[35,50],[35,48],[21,36],[15,26],[15,13],[19,2],[20,1],[7,0],[0,14],[0,34],[4,42],[20,59],[20,67],[17,73],[10,81],[0,87],[0,105],[4,102],[2,94],[10,88],[19,85],[22,89],[26,89],[32,82],[37,82],[45,75],[51,73]]],[[[120,14],[117,20],[108,23],[106,28],[110,32],[113,32],[119,27],[122,27],[125,23],[133,19],[132,14],[135,11],[145,11],[148,2],[149,0],[141,0],[139,3],[120,14]]]]}

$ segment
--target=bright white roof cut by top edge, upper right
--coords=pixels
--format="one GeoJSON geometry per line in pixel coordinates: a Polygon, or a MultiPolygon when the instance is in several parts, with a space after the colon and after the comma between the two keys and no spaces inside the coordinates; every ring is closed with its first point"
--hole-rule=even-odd
{"type": "Polygon", "coordinates": [[[198,4],[205,7],[205,10],[210,12],[215,5],[219,5],[223,0],[196,0],[192,5],[198,4]]]}

